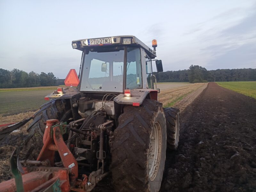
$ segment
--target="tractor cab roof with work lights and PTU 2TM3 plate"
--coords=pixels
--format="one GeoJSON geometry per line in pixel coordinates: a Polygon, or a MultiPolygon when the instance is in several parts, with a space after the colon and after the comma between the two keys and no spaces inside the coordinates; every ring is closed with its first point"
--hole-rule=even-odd
{"type": "Polygon", "coordinates": [[[154,52],[147,45],[142,43],[142,41],[140,41],[137,37],[132,35],[80,39],[72,41],[73,49],[78,49],[80,51],[83,51],[85,48],[90,46],[100,47],[113,45],[139,45],[145,50],[145,52],[150,56],[151,59],[154,59],[156,57],[156,52],[154,52]]]}

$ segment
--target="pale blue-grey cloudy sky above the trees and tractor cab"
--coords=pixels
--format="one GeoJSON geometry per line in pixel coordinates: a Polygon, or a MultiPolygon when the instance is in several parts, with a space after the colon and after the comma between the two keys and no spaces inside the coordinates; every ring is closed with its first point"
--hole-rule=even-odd
{"type": "Polygon", "coordinates": [[[0,0],[0,68],[65,78],[73,40],[120,35],[156,39],[164,71],[256,68],[256,0],[0,0]]]}

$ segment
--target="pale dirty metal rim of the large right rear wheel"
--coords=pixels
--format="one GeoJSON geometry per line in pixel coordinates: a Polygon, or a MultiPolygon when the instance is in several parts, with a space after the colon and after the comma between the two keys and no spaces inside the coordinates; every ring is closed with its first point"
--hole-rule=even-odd
{"type": "Polygon", "coordinates": [[[150,135],[150,146],[149,146],[149,179],[153,181],[156,178],[160,158],[161,158],[161,148],[162,148],[162,134],[161,126],[156,122],[153,126],[152,133],[150,135]]]}

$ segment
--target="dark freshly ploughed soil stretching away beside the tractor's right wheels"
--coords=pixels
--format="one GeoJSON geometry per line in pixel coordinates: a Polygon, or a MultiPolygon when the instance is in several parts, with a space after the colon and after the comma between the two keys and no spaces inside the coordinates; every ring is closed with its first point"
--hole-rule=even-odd
{"type": "MultiPolygon", "coordinates": [[[[160,191],[256,191],[255,178],[256,100],[209,83],[180,113],[179,146],[167,151],[160,191]]],[[[111,175],[93,191],[114,191],[111,175]]]]}

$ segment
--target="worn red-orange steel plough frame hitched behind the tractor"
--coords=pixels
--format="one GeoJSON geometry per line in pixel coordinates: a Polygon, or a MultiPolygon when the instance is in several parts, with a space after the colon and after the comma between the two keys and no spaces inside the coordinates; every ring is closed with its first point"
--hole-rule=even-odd
{"type": "MultiPolygon", "coordinates": [[[[57,180],[60,180],[59,186],[63,192],[68,192],[70,190],[86,192],[85,188],[88,177],[87,175],[83,175],[83,180],[77,179],[77,161],[65,144],[60,126],[56,125],[58,123],[59,121],[57,119],[50,119],[46,121],[43,137],[44,146],[37,157],[37,161],[50,162],[51,167],[23,167],[25,172],[25,174],[22,175],[24,191],[42,191],[51,186],[57,180]],[[64,168],[53,167],[55,151],[59,152],[64,168]],[[72,183],[72,186],[70,186],[70,182],[72,183]]],[[[0,183],[0,191],[13,192],[16,190],[14,179],[0,183]]]]}

